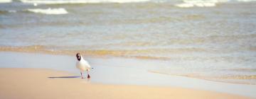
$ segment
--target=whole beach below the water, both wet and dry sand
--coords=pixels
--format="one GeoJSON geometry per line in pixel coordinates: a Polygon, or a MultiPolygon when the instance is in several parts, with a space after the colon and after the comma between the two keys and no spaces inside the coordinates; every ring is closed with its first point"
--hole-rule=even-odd
{"type": "MultiPolygon", "coordinates": [[[[86,57],[81,79],[68,55],[0,52],[0,98],[255,98],[256,86],[156,74],[150,61],[86,57]],[[136,64],[134,64],[136,63],[136,64]]],[[[153,62],[154,63],[154,62],[153,62]]]]}

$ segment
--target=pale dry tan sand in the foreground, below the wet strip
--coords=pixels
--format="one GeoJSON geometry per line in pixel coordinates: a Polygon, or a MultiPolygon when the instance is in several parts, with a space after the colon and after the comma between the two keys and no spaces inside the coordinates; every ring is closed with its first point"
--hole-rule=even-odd
{"type": "Polygon", "coordinates": [[[80,77],[68,78],[72,76],[74,76],[74,74],[50,69],[1,68],[0,98],[246,98],[240,95],[199,91],[188,88],[97,84],[90,83],[80,77]]]}

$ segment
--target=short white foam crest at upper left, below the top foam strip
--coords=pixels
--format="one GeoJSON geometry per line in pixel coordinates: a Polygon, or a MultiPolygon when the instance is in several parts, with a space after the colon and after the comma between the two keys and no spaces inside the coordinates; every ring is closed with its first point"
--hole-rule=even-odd
{"type": "Polygon", "coordinates": [[[66,13],[68,13],[68,11],[66,11],[65,8],[47,8],[47,9],[34,8],[34,9],[28,9],[28,11],[31,11],[33,13],[43,13],[43,14],[66,14],[66,13]]]}

